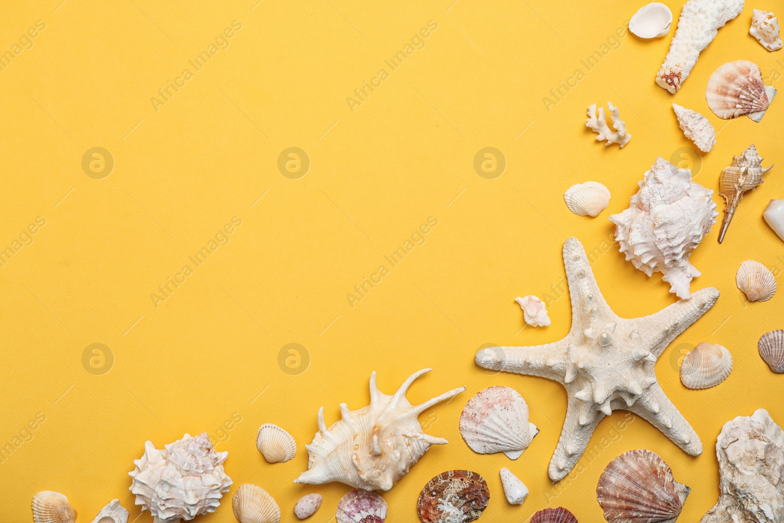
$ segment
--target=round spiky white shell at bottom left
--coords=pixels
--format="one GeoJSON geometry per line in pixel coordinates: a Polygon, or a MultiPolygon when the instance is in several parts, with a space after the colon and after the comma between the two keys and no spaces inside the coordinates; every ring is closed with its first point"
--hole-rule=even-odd
{"type": "Polygon", "coordinates": [[[136,468],[128,473],[136,505],[150,510],[155,523],[178,523],[215,512],[232,484],[223,470],[228,456],[212,449],[206,432],[185,434],[162,450],[147,441],[144,456],[133,460],[136,468]]]}

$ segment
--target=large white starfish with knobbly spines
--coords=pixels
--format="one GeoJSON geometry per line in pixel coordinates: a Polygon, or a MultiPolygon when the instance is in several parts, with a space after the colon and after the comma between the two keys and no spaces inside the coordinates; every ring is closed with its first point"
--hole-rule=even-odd
{"type": "Polygon", "coordinates": [[[593,430],[613,410],[647,419],[691,456],[702,441],[656,382],[656,359],[676,336],[719,297],[708,287],[650,316],[619,318],[601,296],[583,244],[564,242],[564,266],[572,298],[572,329],[563,340],[535,347],[489,347],[477,352],[485,369],[542,376],[561,383],[568,406],[561,439],[550,460],[560,481],[583,456],[593,430]]]}

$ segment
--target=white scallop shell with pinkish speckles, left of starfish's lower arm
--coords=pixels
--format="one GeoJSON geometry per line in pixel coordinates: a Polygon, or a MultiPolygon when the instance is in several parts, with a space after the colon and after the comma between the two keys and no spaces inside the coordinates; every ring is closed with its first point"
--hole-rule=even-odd
{"type": "Polygon", "coordinates": [[[511,387],[480,390],[460,415],[460,435],[477,454],[503,452],[517,459],[538,432],[528,421],[528,405],[511,387]]]}

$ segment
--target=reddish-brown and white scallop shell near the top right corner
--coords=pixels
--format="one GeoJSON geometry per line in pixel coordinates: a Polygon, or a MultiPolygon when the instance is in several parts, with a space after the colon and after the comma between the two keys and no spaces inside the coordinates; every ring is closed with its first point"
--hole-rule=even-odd
{"type": "Polygon", "coordinates": [[[705,99],[719,118],[728,120],[741,114],[759,122],[768,110],[776,89],[762,82],[760,67],[749,60],[728,62],[708,79],[705,99]]]}

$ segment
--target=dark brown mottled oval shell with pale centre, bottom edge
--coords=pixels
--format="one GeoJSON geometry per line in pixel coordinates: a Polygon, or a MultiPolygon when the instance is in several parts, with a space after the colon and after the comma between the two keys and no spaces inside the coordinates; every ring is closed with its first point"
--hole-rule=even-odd
{"type": "Polygon", "coordinates": [[[422,523],[467,523],[478,519],[489,501],[485,478],[471,470],[447,470],[419,492],[416,512],[422,523]]]}

